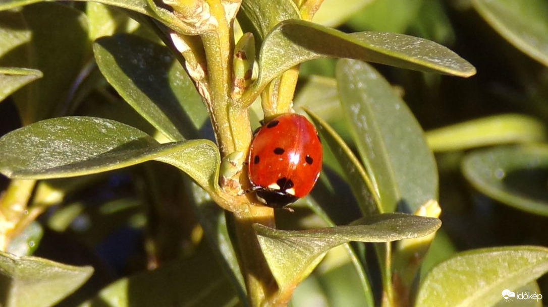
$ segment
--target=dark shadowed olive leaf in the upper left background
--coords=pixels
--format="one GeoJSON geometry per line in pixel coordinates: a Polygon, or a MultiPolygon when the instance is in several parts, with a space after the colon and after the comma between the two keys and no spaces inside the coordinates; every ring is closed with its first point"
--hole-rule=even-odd
{"type": "Polygon", "coordinates": [[[37,3],[23,7],[20,13],[0,14],[11,14],[11,26],[32,36],[27,44],[5,54],[0,65],[38,69],[44,75],[13,95],[22,123],[59,116],[90,53],[85,15],[59,3],[37,3]]]}

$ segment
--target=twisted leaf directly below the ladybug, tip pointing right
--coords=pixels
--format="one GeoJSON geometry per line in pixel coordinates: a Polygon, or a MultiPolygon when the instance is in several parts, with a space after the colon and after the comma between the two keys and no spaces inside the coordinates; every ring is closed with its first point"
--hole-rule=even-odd
{"type": "Polygon", "coordinates": [[[311,230],[277,230],[255,224],[262,252],[281,289],[305,279],[324,254],[350,241],[391,242],[425,236],[441,222],[402,213],[387,213],[359,219],[352,225],[311,230]]]}

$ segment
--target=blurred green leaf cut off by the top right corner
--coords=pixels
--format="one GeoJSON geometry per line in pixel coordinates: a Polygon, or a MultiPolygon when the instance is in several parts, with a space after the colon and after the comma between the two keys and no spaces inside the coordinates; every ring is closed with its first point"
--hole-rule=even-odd
{"type": "Polygon", "coordinates": [[[472,4],[512,45],[548,66],[548,2],[473,0],[472,4]]]}

